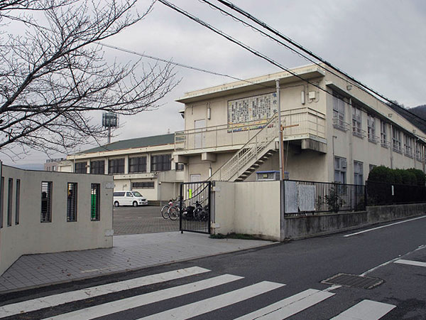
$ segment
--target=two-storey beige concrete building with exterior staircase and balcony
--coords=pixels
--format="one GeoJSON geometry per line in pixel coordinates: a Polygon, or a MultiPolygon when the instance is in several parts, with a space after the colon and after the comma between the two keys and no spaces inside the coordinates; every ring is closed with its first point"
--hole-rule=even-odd
{"type": "Polygon", "coordinates": [[[173,155],[187,164],[185,181],[253,181],[256,171],[279,169],[275,80],[290,179],[359,184],[373,166],[425,171],[424,132],[342,74],[318,65],[292,71],[177,100],[185,130],[175,133],[173,155]]]}

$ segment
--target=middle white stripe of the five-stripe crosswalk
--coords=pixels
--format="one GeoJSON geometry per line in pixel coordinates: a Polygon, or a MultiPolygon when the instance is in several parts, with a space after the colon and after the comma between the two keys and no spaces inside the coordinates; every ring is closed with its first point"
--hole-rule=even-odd
{"type": "MultiPolygon", "coordinates": [[[[160,312],[158,314],[153,314],[151,316],[146,316],[141,319],[173,319],[173,320],[184,320],[192,318],[193,316],[200,316],[200,314],[205,314],[210,311],[224,308],[231,304],[236,304],[237,302],[256,297],[259,294],[269,292],[274,289],[283,287],[285,284],[275,283],[275,282],[258,282],[252,284],[249,287],[244,287],[237,289],[226,294],[220,294],[219,296],[212,297],[209,299],[204,299],[199,302],[194,302],[192,304],[187,304],[185,306],[179,306],[175,309],[170,309],[167,311],[160,312]]],[[[141,320],[138,319],[138,320],[141,320]]]]}

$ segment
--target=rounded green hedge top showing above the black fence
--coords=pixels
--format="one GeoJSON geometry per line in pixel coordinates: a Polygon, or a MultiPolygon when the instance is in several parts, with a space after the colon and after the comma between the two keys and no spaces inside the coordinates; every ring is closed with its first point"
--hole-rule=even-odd
{"type": "Polygon", "coordinates": [[[376,166],[368,174],[367,180],[408,186],[425,186],[426,176],[419,169],[391,169],[386,166],[376,166]]]}

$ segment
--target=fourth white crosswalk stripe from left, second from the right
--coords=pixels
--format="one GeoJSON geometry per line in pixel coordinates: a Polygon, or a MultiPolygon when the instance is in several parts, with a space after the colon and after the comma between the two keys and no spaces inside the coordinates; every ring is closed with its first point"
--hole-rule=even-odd
{"type": "Polygon", "coordinates": [[[283,299],[275,304],[270,304],[265,308],[258,309],[241,316],[235,320],[281,320],[286,319],[293,314],[309,308],[329,297],[334,296],[332,292],[324,292],[316,289],[307,289],[304,292],[295,294],[294,296],[283,299]]]}

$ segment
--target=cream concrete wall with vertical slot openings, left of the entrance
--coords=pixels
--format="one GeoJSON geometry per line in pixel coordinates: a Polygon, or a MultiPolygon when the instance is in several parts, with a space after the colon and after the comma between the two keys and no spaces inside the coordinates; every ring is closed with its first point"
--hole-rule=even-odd
{"type": "Polygon", "coordinates": [[[25,171],[2,166],[3,228],[0,229],[0,274],[21,255],[112,246],[112,176],[25,171]],[[8,185],[13,179],[12,219],[7,224],[8,185]],[[16,179],[21,180],[16,224],[16,179]],[[40,223],[41,183],[52,181],[52,222],[40,223]],[[77,221],[67,222],[67,183],[77,184],[77,221]],[[91,183],[101,184],[99,221],[90,220],[91,183]]]}

